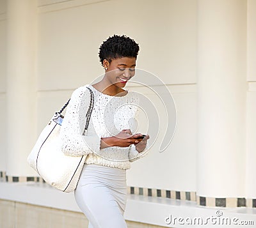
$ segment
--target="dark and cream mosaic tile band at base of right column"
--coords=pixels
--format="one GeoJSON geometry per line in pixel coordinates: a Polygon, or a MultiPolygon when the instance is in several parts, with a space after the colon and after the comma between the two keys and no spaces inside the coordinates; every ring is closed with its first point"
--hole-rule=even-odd
{"type": "Polygon", "coordinates": [[[199,206],[223,207],[223,208],[256,208],[256,199],[246,198],[213,198],[196,195],[196,204],[199,206]]]}

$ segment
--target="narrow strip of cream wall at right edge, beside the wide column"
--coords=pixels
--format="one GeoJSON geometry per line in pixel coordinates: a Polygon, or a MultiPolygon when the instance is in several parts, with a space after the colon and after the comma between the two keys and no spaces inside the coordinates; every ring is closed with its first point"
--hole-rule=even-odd
{"type": "Polygon", "coordinates": [[[256,199],[256,1],[247,3],[247,160],[246,197],[256,199]]]}

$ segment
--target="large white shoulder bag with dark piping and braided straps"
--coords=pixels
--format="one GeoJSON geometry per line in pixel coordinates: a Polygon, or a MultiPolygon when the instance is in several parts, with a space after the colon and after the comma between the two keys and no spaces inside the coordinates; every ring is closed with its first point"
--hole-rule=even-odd
{"type": "MultiPolygon", "coordinates": [[[[85,130],[88,128],[94,103],[93,92],[90,88],[88,89],[91,94],[91,102],[84,117],[86,118],[84,132],[87,132],[85,130]]],[[[54,114],[51,121],[45,126],[27,159],[29,165],[35,169],[45,182],[63,192],[72,192],[76,189],[87,156],[68,156],[61,151],[59,135],[64,118],[61,112],[67,107],[68,102],[65,103],[60,112],[54,114]]]]}

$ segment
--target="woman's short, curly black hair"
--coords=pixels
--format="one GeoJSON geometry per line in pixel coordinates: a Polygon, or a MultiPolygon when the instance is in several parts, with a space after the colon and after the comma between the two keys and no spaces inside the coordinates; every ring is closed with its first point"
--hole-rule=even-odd
{"type": "Polygon", "coordinates": [[[111,63],[112,59],[119,57],[135,57],[137,59],[140,47],[138,43],[131,38],[114,34],[100,45],[99,48],[100,63],[103,66],[103,60],[106,59],[111,63]]]}

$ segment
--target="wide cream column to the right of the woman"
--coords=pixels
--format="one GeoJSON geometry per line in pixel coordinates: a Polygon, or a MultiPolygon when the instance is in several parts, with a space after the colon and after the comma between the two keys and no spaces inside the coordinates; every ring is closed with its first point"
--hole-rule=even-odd
{"type": "Polygon", "coordinates": [[[246,0],[198,0],[196,194],[244,197],[246,0]]]}

